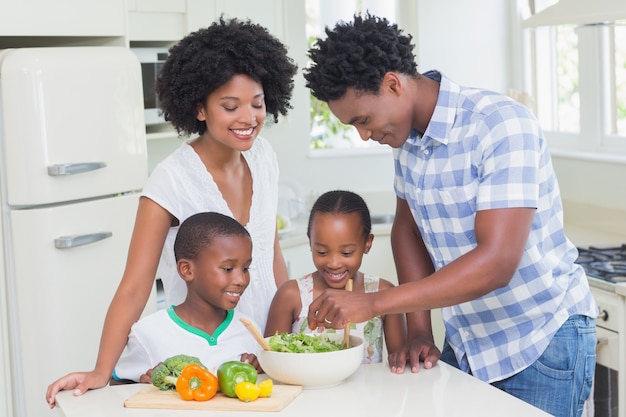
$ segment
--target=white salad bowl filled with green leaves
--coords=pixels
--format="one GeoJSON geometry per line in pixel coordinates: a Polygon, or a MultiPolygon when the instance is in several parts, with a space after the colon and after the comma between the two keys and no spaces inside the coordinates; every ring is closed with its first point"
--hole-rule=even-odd
{"type": "MultiPolygon", "coordinates": [[[[269,342],[270,338],[265,340],[269,342]]],[[[335,340],[343,342],[343,335],[335,340]]],[[[302,385],[305,389],[327,388],[340,384],[359,368],[363,361],[363,339],[350,336],[349,348],[333,352],[274,352],[258,346],[256,355],[265,373],[276,381],[302,385]]]]}

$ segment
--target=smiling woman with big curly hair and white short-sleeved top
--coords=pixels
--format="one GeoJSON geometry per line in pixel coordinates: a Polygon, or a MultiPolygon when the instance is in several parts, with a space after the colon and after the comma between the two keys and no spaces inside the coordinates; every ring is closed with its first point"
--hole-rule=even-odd
{"type": "Polygon", "coordinates": [[[105,386],[130,327],[154,286],[157,268],[168,306],[180,304],[186,286],[177,274],[173,244],[189,216],[215,211],[249,231],[254,265],[237,310],[264,326],[276,287],[287,280],[278,246],[278,164],[259,137],[267,113],[286,114],[297,70],[285,46],[249,21],[220,19],[170,48],[156,91],[165,120],[179,133],[198,135],[152,172],[139,202],[124,275],[107,313],[96,367],[70,373],[48,387],[81,395],[105,386]]]}

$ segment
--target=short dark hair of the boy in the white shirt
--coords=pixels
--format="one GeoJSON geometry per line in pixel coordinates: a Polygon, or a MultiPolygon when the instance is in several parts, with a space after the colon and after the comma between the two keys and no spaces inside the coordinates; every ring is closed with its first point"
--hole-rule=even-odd
{"type": "Polygon", "coordinates": [[[196,259],[198,254],[221,236],[247,236],[250,234],[237,220],[215,212],[197,213],[188,217],[178,229],[174,240],[174,257],[196,259]]]}

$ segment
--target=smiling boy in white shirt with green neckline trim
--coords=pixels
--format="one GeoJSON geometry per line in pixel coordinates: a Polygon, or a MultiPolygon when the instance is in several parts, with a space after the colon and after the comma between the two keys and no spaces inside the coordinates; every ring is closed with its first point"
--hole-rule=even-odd
{"type": "Polygon", "coordinates": [[[176,267],[187,284],[182,304],[147,316],[131,329],[113,378],[149,382],[168,357],[196,356],[211,372],[230,360],[259,369],[256,341],[234,310],[250,283],[252,240],[236,220],[206,212],[187,218],[174,242],[176,267]]]}

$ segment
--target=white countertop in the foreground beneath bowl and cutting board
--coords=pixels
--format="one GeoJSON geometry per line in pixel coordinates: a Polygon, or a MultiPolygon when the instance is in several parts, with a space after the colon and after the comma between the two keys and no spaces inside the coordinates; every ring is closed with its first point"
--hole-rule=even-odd
{"type": "MultiPolygon", "coordinates": [[[[108,386],[80,397],[74,397],[72,391],[63,391],[57,396],[57,409],[65,417],[191,417],[208,414],[206,411],[124,408],[124,401],[143,387],[143,384],[108,386]]],[[[361,365],[344,383],[332,388],[304,390],[280,412],[250,414],[319,417],[340,413],[372,417],[548,416],[442,362],[432,369],[421,369],[417,374],[407,369],[402,375],[392,374],[387,364],[361,365]]],[[[240,411],[211,411],[210,414],[215,417],[242,416],[240,411]]]]}

